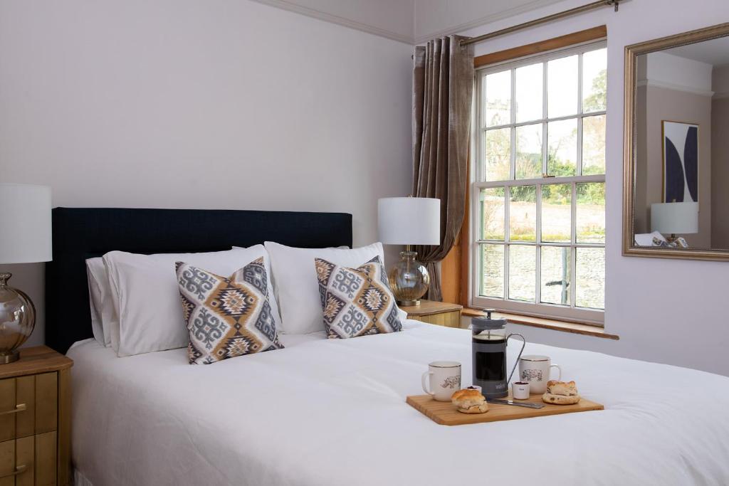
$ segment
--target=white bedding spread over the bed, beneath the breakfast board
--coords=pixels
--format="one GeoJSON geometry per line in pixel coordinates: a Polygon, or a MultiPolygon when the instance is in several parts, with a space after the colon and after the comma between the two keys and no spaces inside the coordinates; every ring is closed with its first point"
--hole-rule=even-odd
{"type": "Polygon", "coordinates": [[[94,486],[729,484],[727,377],[528,344],[605,410],[439,426],[405,396],[436,359],[470,383],[469,332],[406,328],[284,335],[284,350],[207,366],[78,343],[74,466],[94,486]]]}

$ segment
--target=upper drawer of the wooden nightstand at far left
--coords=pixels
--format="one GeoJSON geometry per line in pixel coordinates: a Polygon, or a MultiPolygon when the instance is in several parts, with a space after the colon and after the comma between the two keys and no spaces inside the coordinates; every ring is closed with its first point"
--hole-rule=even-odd
{"type": "Polygon", "coordinates": [[[57,428],[57,372],[0,380],[0,442],[57,428]]]}

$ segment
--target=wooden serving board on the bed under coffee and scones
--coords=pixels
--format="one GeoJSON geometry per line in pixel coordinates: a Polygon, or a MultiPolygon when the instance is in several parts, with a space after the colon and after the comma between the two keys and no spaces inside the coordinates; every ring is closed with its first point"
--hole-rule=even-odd
{"type": "MultiPolygon", "coordinates": [[[[511,397],[510,397],[511,398],[511,397]]],[[[553,405],[542,402],[541,395],[532,395],[532,403],[543,404],[545,407],[527,408],[514,405],[488,404],[486,413],[461,413],[450,401],[435,401],[430,395],[410,395],[406,400],[409,405],[423,413],[426,417],[442,426],[462,426],[466,423],[498,422],[499,420],[515,420],[518,418],[543,417],[545,415],[559,415],[562,413],[588,412],[589,410],[603,410],[599,403],[581,399],[574,405],[553,405]]]]}

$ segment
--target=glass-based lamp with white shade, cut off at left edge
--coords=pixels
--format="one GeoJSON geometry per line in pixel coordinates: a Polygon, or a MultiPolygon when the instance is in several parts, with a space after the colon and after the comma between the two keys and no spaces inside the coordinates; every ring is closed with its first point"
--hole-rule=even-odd
{"type": "MultiPolygon", "coordinates": [[[[50,261],[50,209],[50,187],[0,183],[0,264],[50,261]]],[[[0,272],[0,365],[17,361],[36,325],[33,301],[10,277],[0,272]]]]}

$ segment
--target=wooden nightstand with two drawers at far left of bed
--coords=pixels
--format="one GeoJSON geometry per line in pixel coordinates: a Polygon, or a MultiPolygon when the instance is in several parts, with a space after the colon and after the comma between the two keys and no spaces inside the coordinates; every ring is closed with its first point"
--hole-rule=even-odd
{"type": "Polygon", "coordinates": [[[0,486],[69,484],[73,364],[46,346],[0,364],[0,486]]]}

